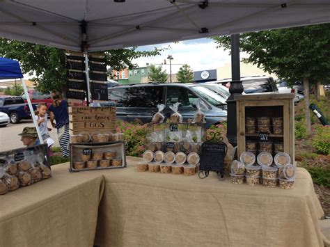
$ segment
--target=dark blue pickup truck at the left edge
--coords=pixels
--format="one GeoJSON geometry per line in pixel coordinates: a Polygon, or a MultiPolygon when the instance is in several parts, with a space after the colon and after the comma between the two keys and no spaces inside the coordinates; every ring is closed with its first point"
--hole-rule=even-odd
{"type": "MultiPolygon", "coordinates": [[[[32,104],[36,110],[37,104],[32,104]]],[[[0,111],[9,115],[10,122],[19,123],[22,119],[31,119],[29,106],[24,103],[24,99],[18,96],[0,95],[0,111]]]]}

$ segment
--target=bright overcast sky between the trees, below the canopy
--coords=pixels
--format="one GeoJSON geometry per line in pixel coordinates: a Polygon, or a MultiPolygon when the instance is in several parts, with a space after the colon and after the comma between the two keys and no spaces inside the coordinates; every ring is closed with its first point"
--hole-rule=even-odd
{"type": "MultiPolygon", "coordinates": [[[[133,63],[136,63],[139,67],[145,67],[146,63],[160,64],[164,63],[164,59],[168,55],[172,55],[172,73],[178,72],[184,63],[187,63],[193,71],[216,70],[217,67],[223,66],[224,63],[230,63],[229,51],[224,51],[222,48],[217,49],[214,41],[207,38],[181,41],[178,43],[148,45],[139,47],[139,50],[150,51],[154,47],[170,47],[170,49],[162,51],[162,54],[159,56],[134,59],[133,63]]],[[[242,54],[241,56],[244,55],[242,54]]],[[[169,72],[169,61],[167,59],[166,63],[167,65],[163,65],[163,69],[169,72]]]]}

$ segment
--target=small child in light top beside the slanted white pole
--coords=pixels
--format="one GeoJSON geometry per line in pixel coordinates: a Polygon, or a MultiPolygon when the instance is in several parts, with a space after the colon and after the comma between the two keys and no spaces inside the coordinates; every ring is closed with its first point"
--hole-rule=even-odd
{"type": "MultiPolygon", "coordinates": [[[[42,140],[47,143],[48,148],[50,148],[54,144],[54,140],[50,138],[49,132],[52,128],[47,127],[47,105],[45,103],[40,103],[37,106],[36,120],[38,121],[38,126],[40,129],[40,134],[42,136],[42,140]]],[[[40,144],[40,142],[38,141],[40,144]]],[[[50,149],[49,149],[50,150],[50,149]]]]}

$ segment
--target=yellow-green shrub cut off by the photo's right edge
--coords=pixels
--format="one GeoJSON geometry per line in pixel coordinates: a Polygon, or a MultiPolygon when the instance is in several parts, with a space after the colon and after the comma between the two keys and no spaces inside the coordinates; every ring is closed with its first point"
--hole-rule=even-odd
{"type": "Polygon", "coordinates": [[[320,154],[330,154],[330,127],[322,125],[313,125],[315,135],[313,136],[313,147],[320,154]]]}

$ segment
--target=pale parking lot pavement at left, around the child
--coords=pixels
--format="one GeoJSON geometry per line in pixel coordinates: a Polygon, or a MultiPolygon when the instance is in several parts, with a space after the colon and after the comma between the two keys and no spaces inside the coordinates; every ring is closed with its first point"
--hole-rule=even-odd
{"type": "MultiPolygon", "coordinates": [[[[48,127],[51,127],[50,123],[47,123],[48,127]]],[[[16,125],[10,123],[6,127],[0,127],[0,152],[13,150],[15,148],[23,148],[21,137],[17,136],[22,133],[24,127],[33,127],[32,120],[22,120],[16,125]]],[[[52,139],[55,141],[53,146],[59,146],[56,129],[52,129],[49,132],[52,139]]]]}

